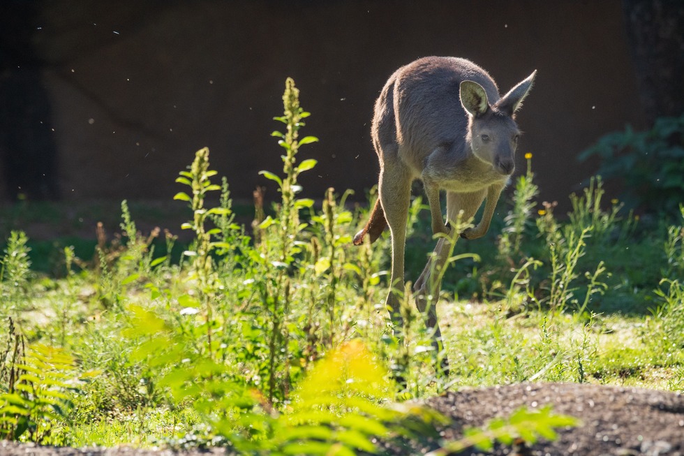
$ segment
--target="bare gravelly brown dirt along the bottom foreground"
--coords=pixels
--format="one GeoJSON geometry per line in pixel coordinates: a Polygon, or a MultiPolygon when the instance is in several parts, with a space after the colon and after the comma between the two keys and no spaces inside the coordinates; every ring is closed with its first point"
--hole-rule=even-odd
{"type": "MultiPolygon", "coordinates": [[[[426,404],[452,418],[443,429],[446,439],[458,439],[463,427],[482,426],[496,416],[507,416],[520,406],[552,404],[553,411],[574,415],[581,427],[560,429],[553,442],[540,441],[529,448],[496,446],[492,453],[477,450],[461,455],[518,456],[684,456],[684,396],[679,393],[579,385],[575,383],[521,383],[484,389],[447,392],[426,404]]],[[[381,454],[413,455],[436,448],[436,442],[381,443],[381,454]]],[[[52,448],[0,442],[3,456],[199,456],[209,452],[133,450],[131,448],[52,448]]]]}

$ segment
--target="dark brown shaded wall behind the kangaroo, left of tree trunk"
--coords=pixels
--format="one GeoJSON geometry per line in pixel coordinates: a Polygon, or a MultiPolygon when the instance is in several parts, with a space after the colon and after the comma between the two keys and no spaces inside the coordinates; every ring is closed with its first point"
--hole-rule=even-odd
{"type": "Polygon", "coordinates": [[[518,163],[523,169],[523,153],[533,152],[543,199],[564,202],[586,182],[595,163],[575,157],[600,135],[648,123],[618,0],[1,8],[0,101],[17,107],[0,114],[0,200],[168,199],[177,172],[204,146],[233,195],[249,198],[269,186],[259,170],[281,169],[270,133],[288,76],[312,112],[304,133],[320,138],[302,148],[302,159],[319,161],[302,179],[306,192],[352,188],[363,199],[378,172],[373,102],[396,68],[426,55],[471,59],[504,92],[538,70],[519,114],[518,163]],[[17,125],[24,133],[8,139],[17,125]]]}

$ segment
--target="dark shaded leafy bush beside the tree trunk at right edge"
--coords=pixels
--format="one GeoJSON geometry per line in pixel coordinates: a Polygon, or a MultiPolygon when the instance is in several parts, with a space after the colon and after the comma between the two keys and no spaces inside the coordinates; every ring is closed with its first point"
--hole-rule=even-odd
{"type": "Polygon", "coordinates": [[[623,186],[632,207],[676,215],[684,191],[684,115],[660,117],[649,131],[609,133],[579,155],[600,160],[597,174],[623,186]]]}

